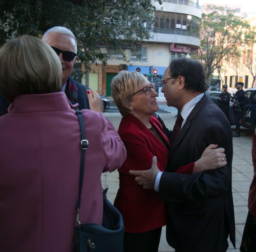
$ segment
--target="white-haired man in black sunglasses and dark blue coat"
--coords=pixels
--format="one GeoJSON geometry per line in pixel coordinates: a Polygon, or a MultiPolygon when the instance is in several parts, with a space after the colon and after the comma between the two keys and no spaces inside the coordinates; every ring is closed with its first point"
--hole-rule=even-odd
{"type": "MultiPolygon", "coordinates": [[[[72,104],[79,103],[79,109],[90,109],[86,94],[89,88],[74,81],[70,76],[77,60],[77,44],[74,34],[65,27],[56,26],[46,31],[42,40],[53,48],[61,61],[62,91],[72,104]]],[[[10,102],[0,95],[0,116],[8,113],[9,105],[10,102]]]]}

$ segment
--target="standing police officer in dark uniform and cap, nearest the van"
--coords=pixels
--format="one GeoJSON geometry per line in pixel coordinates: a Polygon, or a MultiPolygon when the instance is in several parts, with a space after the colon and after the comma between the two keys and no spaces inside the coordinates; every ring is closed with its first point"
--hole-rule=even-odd
{"type": "Polygon", "coordinates": [[[247,94],[243,90],[243,82],[237,82],[237,92],[233,99],[235,105],[235,128],[236,132],[233,137],[240,136],[240,119],[242,117],[244,105],[247,103],[247,94]]]}

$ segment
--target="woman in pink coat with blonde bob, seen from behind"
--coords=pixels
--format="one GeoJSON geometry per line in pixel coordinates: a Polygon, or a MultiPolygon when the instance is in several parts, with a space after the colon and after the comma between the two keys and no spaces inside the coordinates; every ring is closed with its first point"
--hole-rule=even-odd
{"type": "MultiPolygon", "coordinates": [[[[0,48],[0,93],[12,102],[0,117],[1,252],[74,250],[81,133],[78,104],[59,92],[61,73],[40,39],[22,36],[0,48]]],[[[126,150],[102,113],[83,110],[83,118],[89,147],[79,217],[101,225],[101,174],[119,168],[126,150]]]]}

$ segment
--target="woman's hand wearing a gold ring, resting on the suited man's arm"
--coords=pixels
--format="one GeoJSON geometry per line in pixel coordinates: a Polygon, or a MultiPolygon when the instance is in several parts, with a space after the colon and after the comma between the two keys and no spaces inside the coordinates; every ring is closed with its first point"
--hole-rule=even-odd
{"type": "Polygon", "coordinates": [[[225,149],[217,147],[217,144],[210,144],[204,150],[201,158],[195,162],[193,173],[207,170],[215,170],[227,164],[226,154],[224,153],[225,149]]]}

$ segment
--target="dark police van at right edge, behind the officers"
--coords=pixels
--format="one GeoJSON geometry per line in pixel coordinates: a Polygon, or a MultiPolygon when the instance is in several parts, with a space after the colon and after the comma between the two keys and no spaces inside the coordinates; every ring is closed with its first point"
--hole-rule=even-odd
{"type": "Polygon", "coordinates": [[[244,111],[241,118],[241,126],[256,130],[256,88],[250,88],[245,90],[247,94],[247,104],[244,107],[244,111]]]}

